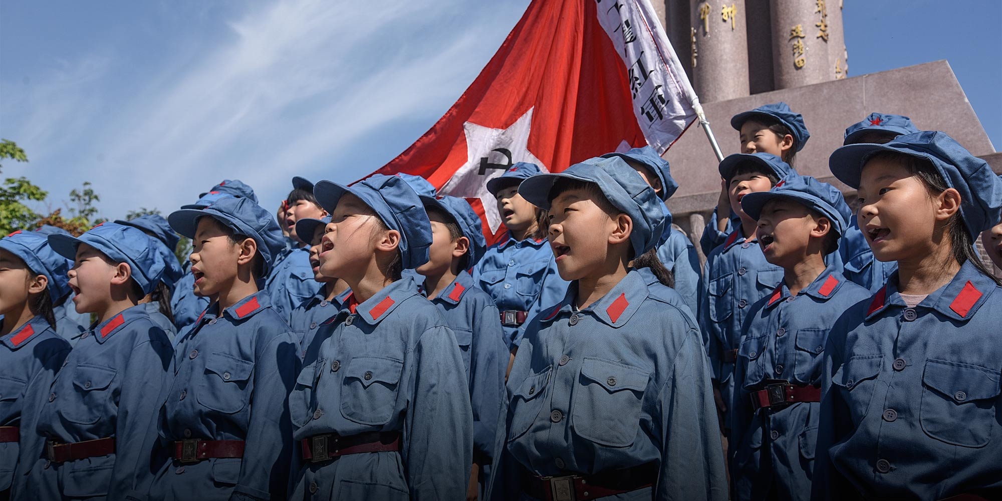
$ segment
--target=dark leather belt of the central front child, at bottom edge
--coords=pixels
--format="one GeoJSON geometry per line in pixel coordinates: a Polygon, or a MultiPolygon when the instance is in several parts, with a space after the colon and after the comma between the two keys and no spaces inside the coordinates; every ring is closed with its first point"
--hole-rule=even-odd
{"type": "Polygon", "coordinates": [[[564,477],[537,477],[523,470],[522,490],[543,501],[588,501],[650,487],[656,480],[657,464],[653,462],[624,470],[564,477]]]}

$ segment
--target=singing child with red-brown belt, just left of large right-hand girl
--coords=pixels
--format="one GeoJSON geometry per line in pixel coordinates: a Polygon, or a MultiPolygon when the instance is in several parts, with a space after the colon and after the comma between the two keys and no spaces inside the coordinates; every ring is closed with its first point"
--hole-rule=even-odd
{"type": "Polygon", "coordinates": [[[811,498],[821,369],[828,331],[869,297],[826,264],[852,216],[835,186],[791,175],[748,193],[741,208],[759,221],[766,260],[784,271],[741,329],[730,404],[730,478],[735,500],[811,498]]]}

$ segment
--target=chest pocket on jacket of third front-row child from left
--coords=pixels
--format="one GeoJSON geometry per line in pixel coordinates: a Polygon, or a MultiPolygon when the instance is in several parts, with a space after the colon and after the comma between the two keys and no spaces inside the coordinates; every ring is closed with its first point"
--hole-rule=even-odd
{"type": "Polygon", "coordinates": [[[198,388],[198,403],[223,414],[235,414],[247,405],[253,386],[254,362],[220,353],[205,360],[205,375],[198,388]]]}

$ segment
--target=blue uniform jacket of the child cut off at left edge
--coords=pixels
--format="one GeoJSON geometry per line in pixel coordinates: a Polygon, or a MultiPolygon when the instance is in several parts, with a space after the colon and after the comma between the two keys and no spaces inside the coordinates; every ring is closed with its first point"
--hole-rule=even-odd
{"type": "Polygon", "coordinates": [[[41,455],[45,438],[36,433],[38,409],[49,396],[69,343],[42,317],[0,338],[0,426],[20,428],[20,440],[0,443],[0,492],[11,488],[15,471],[23,478],[41,455]],[[26,464],[19,464],[18,455],[26,464]]]}

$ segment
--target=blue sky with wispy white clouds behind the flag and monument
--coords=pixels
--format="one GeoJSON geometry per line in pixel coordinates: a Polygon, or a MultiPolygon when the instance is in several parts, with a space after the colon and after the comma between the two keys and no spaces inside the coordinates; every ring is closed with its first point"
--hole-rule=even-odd
{"type": "MultiPolygon", "coordinates": [[[[833,3],[835,0],[831,0],[833,3]]],[[[293,175],[354,180],[479,73],[528,0],[0,3],[0,136],[55,208],[164,213],[222,178],[277,206],[293,175]],[[382,6],[382,7],[380,7],[382,6]]],[[[1002,144],[1002,2],[845,0],[850,76],[947,59],[1002,144]]]]}

